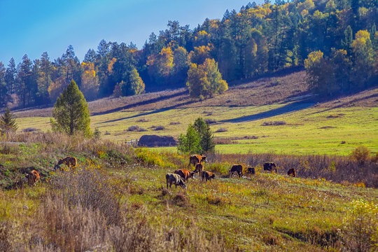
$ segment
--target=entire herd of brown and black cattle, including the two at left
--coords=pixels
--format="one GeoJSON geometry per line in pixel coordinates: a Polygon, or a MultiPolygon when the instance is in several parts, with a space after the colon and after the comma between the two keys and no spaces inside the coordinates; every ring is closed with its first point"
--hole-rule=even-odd
{"type": "MultiPolygon", "coordinates": [[[[174,171],[174,173],[168,173],[165,175],[165,180],[167,182],[167,188],[172,188],[172,184],[177,186],[181,186],[183,188],[186,188],[186,182],[188,182],[188,179],[194,178],[195,174],[200,174],[202,177],[202,181],[206,180],[211,181],[211,179],[215,179],[215,174],[213,172],[204,171],[204,164],[206,156],[205,155],[191,155],[189,158],[189,165],[194,165],[195,170],[190,172],[188,169],[177,169],[174,171]]],[[[76,167],[78,163],[78,160],[74,157],[66,157],[57,163],[55,165],[54,169],[55,171],[60,168],[60,165],[66,165],[67,167],[74,168],[76,167]]],[[[264,171],[267,172],[277,172],[276,164],[274,162],[266,162],[264,164],[264,171]]],[[[229,176],[232,174],[237,173],[239,175],[239,178],[244,175],[244,166],[243,165],[232,165],[230,171],[228,171],[229,176]]],[[[253,167],[246,167],[246,173],[255,174],[255,168],[253,167]]],[[[30,186],[35,186],[36,183],[39,181],[40,176],[36,170],[32,170],[29,172],[29,174],[25,174],[26,179],[30,186]]],[[[291,168],[288,170],[288,176],[295,177],[295,169],[291,168]]]]}

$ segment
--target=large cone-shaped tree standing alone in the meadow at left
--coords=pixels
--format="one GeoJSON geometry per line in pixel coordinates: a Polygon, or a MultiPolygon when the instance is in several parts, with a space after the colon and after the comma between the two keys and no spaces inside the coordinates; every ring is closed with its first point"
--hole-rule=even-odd
{"type": "Polygon", "coordinates": [[[91,135],[88,104],[73,80],[55,102],[52,116],[55,118],[50,119],[52,131],[91,135]]]}

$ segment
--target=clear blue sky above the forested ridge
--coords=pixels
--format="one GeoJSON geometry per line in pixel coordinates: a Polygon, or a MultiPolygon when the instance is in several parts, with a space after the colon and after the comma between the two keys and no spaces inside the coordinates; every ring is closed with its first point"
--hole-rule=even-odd
{"type": "MultiPolygon", "coordinates": [[[[253,1],[253,0],[252,0],[253,1]]],[[[251,1],[251,2],[252,2],[251,1]]],[[[261,3],[262,0],[255,1],[261,3]]],[[[99,41],[136,43],[141,49],[151,34],[178,20],[190,29],[205,18],[222,18],[226,9],[239,11],[248,0],[0,0],[0,61],[20,62],[47,51],[50,59],[73,45],[81,60],[99,41]]]]}

